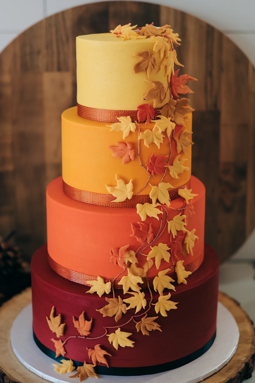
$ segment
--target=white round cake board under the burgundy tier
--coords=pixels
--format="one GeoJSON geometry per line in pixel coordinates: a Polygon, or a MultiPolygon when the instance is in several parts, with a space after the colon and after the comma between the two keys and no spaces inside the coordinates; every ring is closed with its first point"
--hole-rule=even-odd
{"type": "MultiPolygon", "coordinates": [[[[101,383],[197,383],[213,375],[226,365],[235,354],[239,330],[232,314],[218,303],[217,335],[210,349],[198,359],[185,366],[154,375],[109,376],[99,375],[101,383]]],[[[13,322],[11,345],[16,357],[28,370],[54,383],[74,383],[68,376],[54,371],[54,360],[47,357],[36,345],[32,334],[32,304],[24,308],[13,322]]],[[[57,362],[56,362],[57,363],[57,362]]],[[[88,378],[92,380],[93,378],[88,378]]],[[[78,381],[78,378],[77,378],[78,381]]]]}

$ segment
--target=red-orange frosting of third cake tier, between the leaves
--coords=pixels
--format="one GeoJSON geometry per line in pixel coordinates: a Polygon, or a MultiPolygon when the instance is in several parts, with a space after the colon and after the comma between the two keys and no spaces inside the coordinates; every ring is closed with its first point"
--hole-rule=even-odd
{"type": "MultiPolygon", "coordinates": [[[[184,260],[185,270],[193,272],[203,260],[205,187],[197,178],[192,177],[191,188],[192,193],[197,194],[192,199],[195,214],[188,219],[185,229],[190,232],[195,229],[198,239],[195,239],[189,254],[184,251],[184,254],[177,254],[177,257],[184,260]]],[[[158,214],[159,219],[147,216],[145,222],[147,227],[151,224],[154,239],[157,238],[157,233],[162,232],[152,247],[160,243],[171,247],[174,238],[168,232],[167,222],[180,213],[184,214],[184,206],[184,199],[176,198],[169,207],[159,206],[163,211],[163,214],[158,214]]],[[[73,200],[63,192],[62,177],[55,179],[47,188],[47,238],[51,267],[63,277],[82,284],[86,284],[87,280],[97,279],[98,275],[105,279],[115,278],[123,269],[110,262],[110,250],[129,244],[128,250],[137,252],[141,243],[130,235],[131,224],[139,227],[138,222],[142,223],[135,208],[110,208],[73,200]]],[[[151,250],[151,246],[145,248],[146,246],[144,244],[137,252],[139,267],[145,265],[146,256],[151,250]]],[[[170,262],[162,259],[158,269],[153,262],[147,277],[152,278],[160,270],[171,267],[171,259],[170,262]]],[[[174,272],[174,268],[171,272],[174,272]]],[[[127,271],[122,276],[126,273],[127,271]]]]}

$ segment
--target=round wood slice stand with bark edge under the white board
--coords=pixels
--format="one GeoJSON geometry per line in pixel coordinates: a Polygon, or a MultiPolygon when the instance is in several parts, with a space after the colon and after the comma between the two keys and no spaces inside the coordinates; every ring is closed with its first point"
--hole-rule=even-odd
{"type": "MultiPolygon", "coordinates": [[[[229,296],[219,293],[219,301],[237,321],[240,339],[236,354],[219,372],[206,379],[206,383],[240,383],[252,375],[255,361],[255,329],[253,323],[229,296]]],[[[19,312],[31,302],[31,288],[16,295],[0,308],[0,383],[39,383],[44,379],[26,369],[11,348],[10,331],[19,312]]]]}

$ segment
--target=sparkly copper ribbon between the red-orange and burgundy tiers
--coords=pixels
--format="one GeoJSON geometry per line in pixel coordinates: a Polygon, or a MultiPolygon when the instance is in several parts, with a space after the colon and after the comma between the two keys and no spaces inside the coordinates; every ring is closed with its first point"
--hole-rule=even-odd
{"type": "MultiPolygon", "coordinates": [[[[203,259],[204,259],[204,252],[202,254],[200,254],[199,257],[197,257],[195,260],[193,260],[190,264],[185,265],[185,270],[191,271],[193,273],[194,271],[196,271],[198,269],[198,267],[200,267],[200,265],[203,262],[203,259]]],[[[84,273],[79,273],[77,271],[71,270],[70,268],[61,266],[60,264],[55,262],[50,257],[49,254],[48,254],[48,263],[49,263],[50,267],[52,268],[52,270],[55,271],[55,273],[57,273],[58,275],[61,275],[61,277],[68,279],[71,282],[76,282],[76,283],[79,283],[80,285],[91,286],[89,284],[89,281],[97,280],[97,276],[95,276],[95,275],[88,275],[88,274],[84,274],[84,273]]],[[[177,280],[177,275],[175,272],[169,273],[167,275],[169,277],[173,278],[174,280],[177,280]]],[[[153,279],[154,278],[155,277],[147,278],[148,283],[149,283],[149,287],[153,287],[153,279]]],[[[113,279],[114,278],[104,278],[104,282],[105,283],[107,283],[107,282],[112,283],[113,279]]],[[[122,289],[123,288],[123,285],[118,285],[118,283],[120,282],[120,279],[121,278],[116,278],[114,280],[114,288],[115,289],[122,289]]],[[[143,284],[140,284],[141,288],[148,288],[147,279],[142,278],[143,284]]]]}

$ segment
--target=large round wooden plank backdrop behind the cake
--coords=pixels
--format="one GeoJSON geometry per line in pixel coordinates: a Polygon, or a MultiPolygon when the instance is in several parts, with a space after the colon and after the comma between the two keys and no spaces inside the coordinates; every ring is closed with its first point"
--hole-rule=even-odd
{"type": "Polygon", "coordinates": [[[75,37],[121,23],[170,24],[181,73],[197,77],[192,173],[206,186],[205,239],[221,261],[255,226],[255,70],[226,36],[184,12],[101,2],[50,16],[0,54],[0,234],[31,256],[46,241],[45,189],[61,174],[63,110],[76,104],[75,37]],[[185,71],[185,72],[184,72],[185,71]]]}

